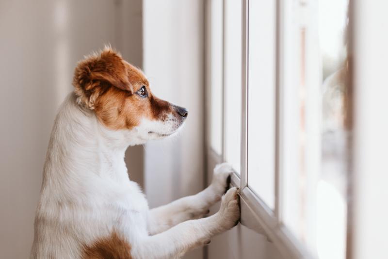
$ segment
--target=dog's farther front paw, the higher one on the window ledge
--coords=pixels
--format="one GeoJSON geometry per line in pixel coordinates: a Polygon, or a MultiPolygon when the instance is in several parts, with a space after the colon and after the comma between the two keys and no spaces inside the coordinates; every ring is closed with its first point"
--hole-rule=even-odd
{"type": "Polygon", "coordinates": [[[221,197],[229,189],[230,176],[233,173],[232,165],[229,163],[220,163],[214,167],[211,187],[217,195],[221,197]]]}

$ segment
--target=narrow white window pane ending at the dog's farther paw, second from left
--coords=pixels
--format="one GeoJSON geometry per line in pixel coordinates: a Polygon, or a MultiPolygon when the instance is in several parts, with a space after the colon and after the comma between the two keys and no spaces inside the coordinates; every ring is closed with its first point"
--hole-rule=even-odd
{"type": "Polygon", "coordinates": [[[240,172],[241,1],[225,1],[225,159],[240,172]]]}

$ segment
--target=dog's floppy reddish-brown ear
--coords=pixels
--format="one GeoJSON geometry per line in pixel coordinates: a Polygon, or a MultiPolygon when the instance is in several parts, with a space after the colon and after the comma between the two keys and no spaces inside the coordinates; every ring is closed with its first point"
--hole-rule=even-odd
{"type": "Polygon", "coordinates": [[[99,54],[92,54],[77,64],[73,85],[79,101],[94,109],[97,97],[109,87],[117,87],[133,94],[129,71],[120,54],[105,47],[99,54]]]}

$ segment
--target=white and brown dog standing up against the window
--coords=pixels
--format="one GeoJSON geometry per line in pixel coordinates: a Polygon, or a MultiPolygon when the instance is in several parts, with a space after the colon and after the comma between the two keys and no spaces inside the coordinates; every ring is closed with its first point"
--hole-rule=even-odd
{"type": "Polygon", "coordinates": [[[227,163],[202,192],[155,209],[130,181],[127,147],[175,134],[188,115],[154,96],[140,69],[105,47],[77,64],[73,86],[49,141],[32,259],[180,258],[237,224],[239,190],[225,193],[227,163]]]}

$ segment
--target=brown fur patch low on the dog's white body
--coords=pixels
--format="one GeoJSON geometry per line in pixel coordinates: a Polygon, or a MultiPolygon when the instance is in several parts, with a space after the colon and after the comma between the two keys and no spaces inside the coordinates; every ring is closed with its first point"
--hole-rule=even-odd
{"type": "Polygon", "coordinates": [[[85,245],[82,259],[131,259],[130,245],[113,231],[112,235],[85,245]]]}

